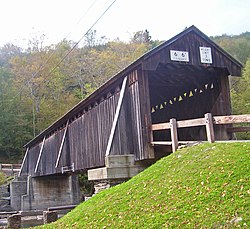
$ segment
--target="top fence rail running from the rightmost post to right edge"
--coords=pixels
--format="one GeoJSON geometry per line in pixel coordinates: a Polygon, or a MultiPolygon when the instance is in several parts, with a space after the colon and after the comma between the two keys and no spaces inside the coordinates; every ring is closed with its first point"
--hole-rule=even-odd
{"type": "Polygon", "coordinates": [[[214,124],[234,124],[234,123],[248,123],[250,122],[250,114],[245,115],[228,115],[228,116],[215,116],[214,124]]]}

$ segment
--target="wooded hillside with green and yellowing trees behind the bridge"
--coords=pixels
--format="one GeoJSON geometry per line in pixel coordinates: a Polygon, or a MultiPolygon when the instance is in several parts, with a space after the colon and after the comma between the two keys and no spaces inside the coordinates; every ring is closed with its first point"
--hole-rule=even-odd
{"type": "MultiPolygon", "coordinates": [[[[89,31],[84,42],[44,45],[45,35],[27,48],[0,47],[0,161],[20,162],[23,145],[60,118],[110,77],[163,41],[147,30],[129,42],[110,41],[89,31]]],[[[250,113],[250,32],[211,37],[243,66],[231,77],[233,114],[250,113]]],[[[239,135],[250,139],[249,134],[239,135]]]]}

